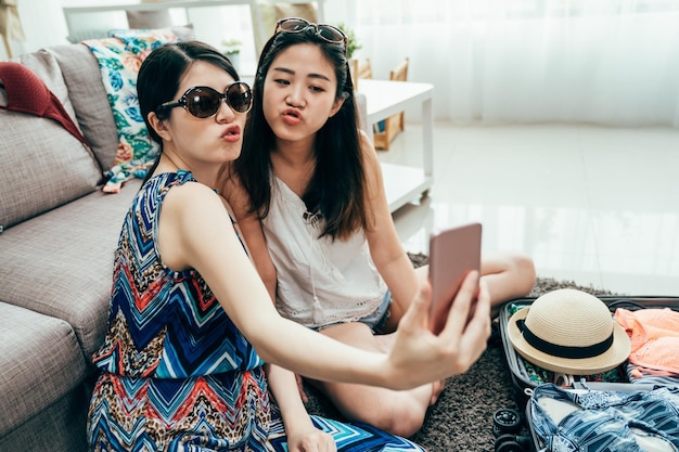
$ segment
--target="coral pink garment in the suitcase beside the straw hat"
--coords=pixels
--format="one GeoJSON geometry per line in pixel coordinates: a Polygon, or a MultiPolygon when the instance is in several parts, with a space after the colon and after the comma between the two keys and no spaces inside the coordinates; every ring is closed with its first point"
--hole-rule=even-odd
{"type": "Polygon", "coordinates": [[[629,311],[618,308],[615,321],[631,339],[629,362],[654,374],[679,374],[679,312],[669,308],[629,311]]]}

